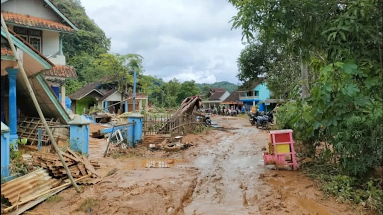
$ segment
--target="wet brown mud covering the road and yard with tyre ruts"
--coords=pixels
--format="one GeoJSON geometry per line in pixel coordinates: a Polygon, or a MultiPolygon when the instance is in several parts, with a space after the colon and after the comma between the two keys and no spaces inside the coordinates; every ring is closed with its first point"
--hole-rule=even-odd
{"type": "Polygon", "coordinates": [[[66,189],[29,214],[360,214],[324,199],[299,171],[266,168],[268,132],[240,117],[213,121],[228,129],[187,135],[194,146],[172,153],[135,149],[103,158],[106,141],[91,138],[90,159],[101,164],[103,180],[81,186],[81,194],[66,189]],[[169,167],[146,168],[153,161],[169,167]]]}

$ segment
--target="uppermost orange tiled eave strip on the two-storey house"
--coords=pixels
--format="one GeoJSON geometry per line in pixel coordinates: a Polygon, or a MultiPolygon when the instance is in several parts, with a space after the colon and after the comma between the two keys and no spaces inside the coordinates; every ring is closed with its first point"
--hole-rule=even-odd
{"type": "Polygon", "coordinates": [[[47,20],[44,18],[19,13],[10,13],[7,11],[2,11],[2,14],[4,16],[4,20],[8,23],[20,24],[36,28],[52,29],[56,31],[75,32],[75,29],[53,20],[47,20]]]}

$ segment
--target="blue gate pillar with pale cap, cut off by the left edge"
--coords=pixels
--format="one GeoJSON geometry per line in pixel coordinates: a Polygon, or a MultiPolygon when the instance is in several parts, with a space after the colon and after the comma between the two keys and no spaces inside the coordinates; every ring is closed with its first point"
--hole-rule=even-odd
{"type": "Polygon", "coordinates": [[[9,133],[10,129],[7,125],[1,122],[1,176],[9,176],[9,163],[10,163],[10,143],[9,133]]]}

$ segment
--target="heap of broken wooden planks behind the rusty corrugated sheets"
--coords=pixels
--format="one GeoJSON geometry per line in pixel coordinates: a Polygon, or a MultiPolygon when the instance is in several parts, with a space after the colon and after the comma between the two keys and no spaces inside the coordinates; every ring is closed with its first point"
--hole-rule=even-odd
{"type": "MultiPolygon", "coordinates": [[[[47,169],[54,178],[67,178],[67,173],[62,165],[59,156],[56,153],[44,153],[35,151],[31,153],[34,163],[38,166],[47,169]]],[[[67,149],[66,152],[61,152],[64,161],[72,173],[73,178],[81,178],[88,174],[92,174],[93,178],[98,178],[96,169],[100,168],[97,162],[89,161],[84,155],[80,156],[76,152],[67,149]]]]}

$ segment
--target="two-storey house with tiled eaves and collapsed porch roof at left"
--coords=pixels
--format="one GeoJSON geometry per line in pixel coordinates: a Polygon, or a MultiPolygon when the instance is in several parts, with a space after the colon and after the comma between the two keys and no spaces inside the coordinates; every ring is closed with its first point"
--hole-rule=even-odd
{"type": "MultiPolygon", "coordinates": [[[[49,0],[2,0],[1,10],[44,116],[55,125],[67,125],[65,79],[77,78],[77,74],[65,65],[62,34],[75,33],[78,28],[49,0]]],[[[3,26],[1,121],[9,127],[11,143],[21,137],[37,141],[37,127],[42,125],[3,26]]]]}

